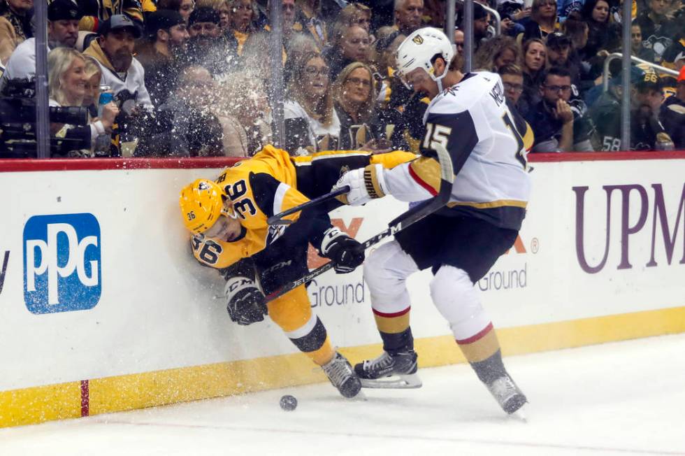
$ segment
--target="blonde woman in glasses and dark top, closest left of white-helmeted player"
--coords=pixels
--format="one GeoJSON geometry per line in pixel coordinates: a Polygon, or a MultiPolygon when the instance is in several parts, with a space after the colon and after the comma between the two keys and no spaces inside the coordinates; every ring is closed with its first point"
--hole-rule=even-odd
{"type": "Polygon", "coordinates": [[[340,149],[373,150],[382,133],[375,129],[373,71],[361,62],[345,66],[333,84],[333,98],[340,118],[340,149]]]}

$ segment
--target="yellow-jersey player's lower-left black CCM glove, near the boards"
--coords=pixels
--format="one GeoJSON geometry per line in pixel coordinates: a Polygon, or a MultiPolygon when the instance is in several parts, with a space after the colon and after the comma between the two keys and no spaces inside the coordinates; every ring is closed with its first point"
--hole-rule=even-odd
{"type": "Polygon", "coordinates": [[[226,310],[238,325],[252,325],[264,320],[267,314],[266,299],[254,280],[247,277],[231,277],[224,287],[226,310]]]}

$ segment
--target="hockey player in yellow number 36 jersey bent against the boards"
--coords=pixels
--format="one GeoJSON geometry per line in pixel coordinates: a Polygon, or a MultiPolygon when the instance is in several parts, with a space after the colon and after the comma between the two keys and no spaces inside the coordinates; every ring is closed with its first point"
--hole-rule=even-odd
{"type": "Polygon", "coordinates": [[[289,215],[292,225],[270,227],[267,219],[329,192],[348,169],[369,164],[392,167],[413,158],[408,152],[371,155],[356,151],[290,157],[269,145],[225,169],[215,180],[198,179],[181,190],[181,213],[193,234],[194,255],[226,278],[231,320],[250,325],[269,315],[299,350],[322,366],[344,397],[359,393],[359,378],[312,313],[305,285],[269,302],[264,295],[308,273],[309,243],[333,261],[338,273],[359,266],[363,248],[331,225],[328,211],[340,206],[336,200],[289,215]]]}

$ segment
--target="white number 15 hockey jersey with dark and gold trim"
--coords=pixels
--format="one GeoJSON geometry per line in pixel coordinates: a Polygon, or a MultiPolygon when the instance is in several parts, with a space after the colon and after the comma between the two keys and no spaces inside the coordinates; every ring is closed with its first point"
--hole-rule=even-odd
{"type": "Polygon", "coordinates": [[[431,101],[424,123],[422,157],[384,172],[389,193],[402,201],[435,196],[440,166],[433,145],[440,143],[455,174],[448,208],[440,213],[468,214],[519,229],[531,192],[526,155],[533,134],[515,108],[507,106],[500,76],[466,74],[431,101]]]}

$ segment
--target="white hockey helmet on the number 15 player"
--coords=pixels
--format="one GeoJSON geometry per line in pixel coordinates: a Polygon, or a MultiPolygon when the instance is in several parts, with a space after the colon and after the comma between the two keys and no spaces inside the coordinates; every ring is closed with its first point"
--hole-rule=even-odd
{"type": "Polygon", "coordinates": [[[405,38],[396,54],[396,75],[401,78],[402,82],[408,87],[406,76],[417,68],[422,68],[431,76],[431,79],[438,83],[440,91],[442,91],[441,79],[447,74],[445,70],[440,76],[435,76],[435,69],[431,59],[436,54],[441,55],[445,59],[445,63],[449,66],[454,57],[455,47],[450,43],[447,35],[442,33],[442,30],[434,27],[424,27],[414,31],[410,36],[405,38]]]}

